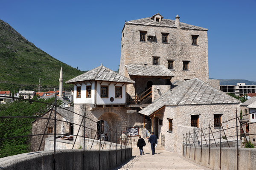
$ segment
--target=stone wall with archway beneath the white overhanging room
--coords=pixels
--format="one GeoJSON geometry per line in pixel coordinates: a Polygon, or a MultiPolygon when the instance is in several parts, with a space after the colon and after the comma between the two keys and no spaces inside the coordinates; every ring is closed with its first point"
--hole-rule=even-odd
{"type": "MultiPolygon", "coordinates": [[[[112,142],[119,142],[119,137],[121,135],[122,130],[126,130],[127,127],[139,127],[141,130],[143,129],[143,116],[137,113],[136,110],[134,112],[127,113],[128,110],[131,110],[126,107],[112,107],[112,108],[90,108],[90,105],[74,105],[74,112],[82,113],[86,112],[85,125],[88,128],[85,128],[85,135],[88,137],[93,137],[96,135],[97,125],[96,122],[100,119],[108,122],[108,126],[111,128],[109,139],[112,142]],[[86,111],[85,111],[86,109],[86,111]],[[93,121],[91,121],[91,120],[93,121]],[[116,134],[117,131],[117,134],[116,134]]],[[[81,116],[75,116],[74,114],[74,123],[81,124],[81,116]],[[76,118],[75,118],[76,117],[76,118]]],[[[84,123],[82,123],[84,124],[84,123]]],[[[148,121],[146,122],[146,125],[148,121]]],[[[74,135],[77,134],[79,129],[78,125],[74,125],[74,135]]],[[[106,129],[104,129],[105,131],[106,129]]],[[[79,136],[83,136],[83,128],[79,130],[79,136]]],[[[96,137],[97,139],[97,137],[96,137]]],[[[79,148],[83,146],[83,139],[78,137],[75,148],[79,148]]]]}

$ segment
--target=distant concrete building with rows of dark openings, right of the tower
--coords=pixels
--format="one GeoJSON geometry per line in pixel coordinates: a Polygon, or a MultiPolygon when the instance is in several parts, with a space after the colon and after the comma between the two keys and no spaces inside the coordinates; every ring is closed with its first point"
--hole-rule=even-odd
{"type": "Polygon", "coordinates": [[[224,93],[243,96],[244,94],[255,93],[256,85],[245,85],[245,83],[237,83],[236,85],[220,85],[220,90],[224,93]]]}

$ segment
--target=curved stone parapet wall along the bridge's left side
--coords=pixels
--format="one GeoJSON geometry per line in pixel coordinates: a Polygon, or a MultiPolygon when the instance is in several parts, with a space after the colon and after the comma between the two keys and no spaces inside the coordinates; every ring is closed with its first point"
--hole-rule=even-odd
{"type": "Polygon", "coordinates": [[[56,150],[23,153],[0,159],[4,170],[112,170],[131,158],[131,148],[117,150],[56,150]],[[83,157],[84,156],[84,157],[83,157]]]}

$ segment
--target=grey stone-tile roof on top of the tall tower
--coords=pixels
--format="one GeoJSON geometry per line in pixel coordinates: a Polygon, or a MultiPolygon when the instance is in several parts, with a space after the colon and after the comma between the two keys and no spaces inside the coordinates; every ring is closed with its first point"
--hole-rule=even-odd
{"type": "MultiPolygon", "coordinates": [[[[176,28],[175,20],[162,19],[161,22],[157,22],[157,21],[152,20],[151,17],[142,18],[142,19],[139,19],[139,20],[131,20],[131,21],[126,22],[125,24],[137,24],[137,25],[145,25],[145,26],[163,26],[163,27],[176,28]]],[[[192,25],[189,25],[189,24],[186,24],[186,23],[181,23],[181,22],[180,22],[180,28],[204,30],[204,31],[208,30],[207,28],[192,26],[192,25]]]]}

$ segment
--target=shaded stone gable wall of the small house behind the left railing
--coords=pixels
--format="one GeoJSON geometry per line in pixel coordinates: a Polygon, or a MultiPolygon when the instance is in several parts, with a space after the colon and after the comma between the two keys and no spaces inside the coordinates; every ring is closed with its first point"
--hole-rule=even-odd
{"type": "MultiPolygon", "coordinates": [[[[58,109],[57,109],[57,112],[58,112],[58,109]]],[[[49,114],[50,114],[50,111],[48,113],[44,114],[44,116],[42,116],[42,117],[49,118],[49,114]]],[[[52,111],[51,119],[54,119],[54,117],[55,117],[55,114],[54,114],[54,111],[52,111]]],[[[64,120],[59,113],[56,114],[56,119],[64,120]]],[[[66,121],[66,120],[64,120],[64,121],[66,121]]],[[[61,124],[62,124],[62,122],[56,121],[56,133],[61,133],[61,124]]],[[[64,134],[70,133],[70,123],[63,122],[63,124],[64,124],[64,134]]],[[[46,125],[47,125],[47,119],[37,119],[35,122],[32,123],[32,135],[43,134],[46,125]]],[[[54,120],[49,120],[47,127],[52,127],[52,130],[54,133],[54,120]]],[[[46,133],[48,133],[48,128],[46,130],[46,133]]],[[[40,150],[44,150],[45,139],[50,136],[53,136],[53,134],[44,136],[44,140],[42,142],[40,150]]],[[[32,152],[38,151],[38,148],[41,143],[41,138],[42,138],[41,135],[32,136],[32,139],[31,139],[32,152]]]]}

